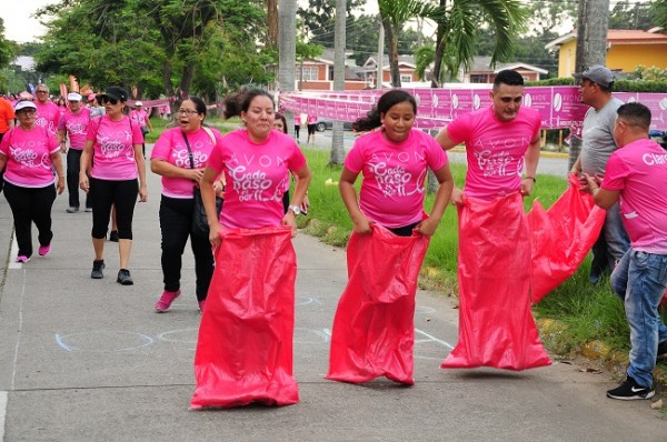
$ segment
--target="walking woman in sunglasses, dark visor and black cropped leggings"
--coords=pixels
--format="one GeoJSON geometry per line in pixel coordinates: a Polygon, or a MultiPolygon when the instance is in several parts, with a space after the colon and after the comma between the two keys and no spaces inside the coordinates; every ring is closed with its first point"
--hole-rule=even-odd
{"type": "Polygon", "coordinates": [[[111,207],[116,205],[120,255],[120,270],[116,281],[122,285],[135,283],[128,267],[137,193],[141,202],[148,199],[146,162],[141,154],[143,137],[139,124],[123,113],[127,99],[127,91],[118,86],[107,88],[101,96],[107,113],[92,120],[88,127],[79,172],[79,185],[86,193],[90,193],[92,201],[94,260],[90,278],[103,278],[104,241],[111,207]],[[87,174],[89,169],[90,179],[87,174]]]}

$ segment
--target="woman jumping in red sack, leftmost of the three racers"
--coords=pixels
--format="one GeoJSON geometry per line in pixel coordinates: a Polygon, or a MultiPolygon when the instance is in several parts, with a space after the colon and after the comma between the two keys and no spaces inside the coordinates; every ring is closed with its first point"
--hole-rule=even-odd
{"type": "Polygon", "coordinates": [[[203,172],[201,198],[216,267],[195,355],[195,409],[299,401],[292,375],[291,238],[310,170],[296,142],[272,130],[273,109],[262,90],[228,97],[225,115],[240,114],[246,128],[222,137],[203,172]],[[290,171],[299,180],[283,213],[290,171]],[[227,185],[218,220],[213,183],[220,173],[227,185]]]}

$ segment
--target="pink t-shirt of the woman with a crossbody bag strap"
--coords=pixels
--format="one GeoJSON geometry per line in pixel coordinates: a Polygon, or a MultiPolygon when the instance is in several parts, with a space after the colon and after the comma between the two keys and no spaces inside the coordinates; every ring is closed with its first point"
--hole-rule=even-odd
{"type": "MultiPolygon", "coordinates": [[[[220,144],[221,142],[222,135],[220,132],[216,129],[209,130],[213,133],[216,139],[215,144],[203,129],[187,134],[188,141],[190,142],[190,149],[192,150],[193,169],[206,168],[211,151],[216,144],[220,144]]],[[[183,140],[183,132],[180,128],[173,128],[162,132],[153,145],[150,158],[151,160],[153,158],[162,159],[177,168],[192,169],[190,168],[188,145],[183,140]]],[[[195,182],[186,178],[162,177],[162,194],[165,197],[192,198],[193,187],[195,182]]]]}

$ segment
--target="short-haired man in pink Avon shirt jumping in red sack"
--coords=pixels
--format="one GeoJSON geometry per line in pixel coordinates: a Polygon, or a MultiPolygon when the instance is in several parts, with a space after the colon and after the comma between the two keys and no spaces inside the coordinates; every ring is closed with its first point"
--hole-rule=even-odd
{"type": "Polygon", "coordinates": [[[524,79],[498,72],[492,104],[438,133],[448,150],[465,142],[459,212],[459,340],[441,368],[524,370],[550,364],[530,312],[530,239],[522,197],[536,182],[541,119],[521,107],[524,79]],[[525,172],[525,177],[521,178],[525,172]]]}

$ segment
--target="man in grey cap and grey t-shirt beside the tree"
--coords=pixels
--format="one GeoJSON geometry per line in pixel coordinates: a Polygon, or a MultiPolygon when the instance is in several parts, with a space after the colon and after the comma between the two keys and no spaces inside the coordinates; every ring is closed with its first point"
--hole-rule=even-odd
{"type": "MultiPolygon", "coordinates": [[[[609,157],[618,149],[613,132],[616,110],[623,101],[611,96],[614,74],[604,66],[591,66],[574,77],[581,80],[581,102],[590,108],[584,118],[581,152],[570,173],[579,177],[581,184],[586,184],[581,172],[604,175],[609,157]]],[[[605,225],[591,249],[590,282],[597,284],[605,272],[614,270],[629,247],[618,204],[613,204],[607,209],[605,225]]]]}

